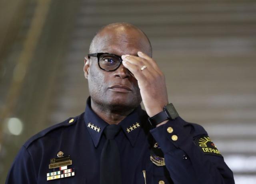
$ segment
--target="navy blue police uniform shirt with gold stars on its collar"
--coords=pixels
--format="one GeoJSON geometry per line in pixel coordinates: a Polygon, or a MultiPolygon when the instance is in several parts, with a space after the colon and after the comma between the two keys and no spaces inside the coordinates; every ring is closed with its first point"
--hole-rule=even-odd
{"type": "MultiPolygon", "coordinates": [[[[153,128],[147,119],[139,106],[119,123],[122,131],[115,140],[122,184],[144,184],[145,177],[147,184],[234,184],[232,171],[202,126],[178,117],[153,128]]],[[[22,146],[6,184],[99,184],[107,125],[88,98],[84,113],[41,131],[22,146]],[[58,153],[60,158],[70,155],[72,164],[49,169],[58,153]]]]}

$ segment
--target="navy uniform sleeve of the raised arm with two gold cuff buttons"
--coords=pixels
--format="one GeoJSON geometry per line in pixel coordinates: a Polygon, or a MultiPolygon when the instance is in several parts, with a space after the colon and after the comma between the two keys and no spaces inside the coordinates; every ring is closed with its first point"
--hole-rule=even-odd
{"type": "Polygon", "coordinates": [[[210,148],[201,149],[196,145],[198,137],[208,137],[200,125],[178,117],[150,133],[164,153],[174,184],[234,184],[233,173],[223,157],[218,153],[208,154],[212,151],[210,148]]]}

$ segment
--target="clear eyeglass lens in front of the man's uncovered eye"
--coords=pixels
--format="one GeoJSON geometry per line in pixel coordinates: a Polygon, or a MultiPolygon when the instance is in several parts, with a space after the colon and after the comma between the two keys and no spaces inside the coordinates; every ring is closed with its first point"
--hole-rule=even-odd
{"type": "Polygon", "coordinates": [[[104,70],[115,70],[120,62],[120,58],[114,55],[103,54],[99,57],[100,67],[104,70]]]}

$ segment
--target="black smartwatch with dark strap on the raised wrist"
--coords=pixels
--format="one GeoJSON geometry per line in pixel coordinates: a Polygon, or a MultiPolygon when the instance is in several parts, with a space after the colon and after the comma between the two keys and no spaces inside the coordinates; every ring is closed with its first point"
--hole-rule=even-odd
{"type": "Polygon", "coordinates": [[[173,104],[170,103],[170,104],[167,104],[166,106],[164,106],[163,111],[161,111],[160,113],[158,113],[152,117],[149,117],[148,121],[153,127],[156,127],[156,125],[158,125],[159,123],[162,123],[163,121],[165,121],[167,119],[174,120],[176,117],[179,117],[179,114],[176,111],[176,109],[174,108],[173,104]]]}

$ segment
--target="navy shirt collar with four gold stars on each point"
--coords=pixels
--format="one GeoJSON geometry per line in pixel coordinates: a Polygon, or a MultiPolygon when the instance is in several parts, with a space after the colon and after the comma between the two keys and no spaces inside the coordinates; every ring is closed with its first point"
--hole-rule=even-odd
{"type": "MultiPolygon", "coordinates": [[[[134,147],[136,139],[138,137],[138,133],[140,132],[140,129],[142,127],[142,120],[140,119],[141,115],[142,109],[141,106],[138,106],[119,123],[126,137],[130,141],[132,147],[134,147]]],[[[86,101],[84,122],[86,124],[86,128],[90,133],[94,146],[98,147],[103,131],[105,127],[109,124],[103,119],[101,119],[92,110],[90,97],[86,101]]]]}

